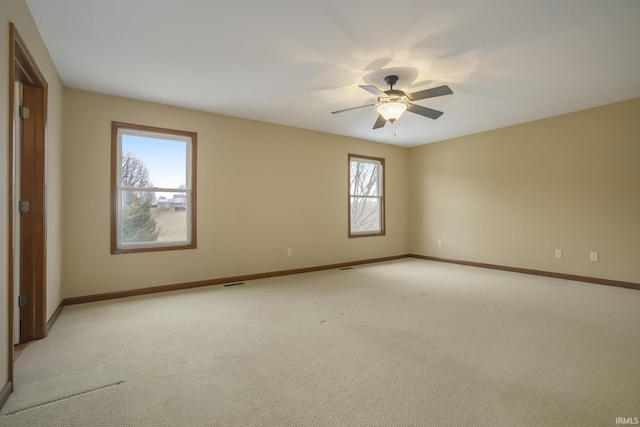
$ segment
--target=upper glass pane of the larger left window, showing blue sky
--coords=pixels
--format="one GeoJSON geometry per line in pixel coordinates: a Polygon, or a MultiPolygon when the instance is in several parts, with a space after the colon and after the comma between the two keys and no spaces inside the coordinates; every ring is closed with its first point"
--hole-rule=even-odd
{"type": "Polygon", "coordinates": [[[186,188],[187,143],[123,133],[122,185],[186,188]]]}

